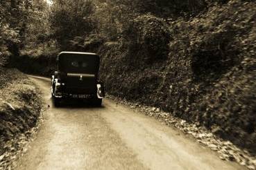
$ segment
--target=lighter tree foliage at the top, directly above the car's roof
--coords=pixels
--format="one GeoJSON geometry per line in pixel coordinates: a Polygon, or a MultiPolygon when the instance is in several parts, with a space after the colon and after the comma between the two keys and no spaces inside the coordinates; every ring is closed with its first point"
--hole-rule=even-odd
{"type": "Polygon", "coordinates": [[[55,1],[49,18],[53,37],[61,49],[69,47],[74,37],[89,35],[94,28],[91,19],[94,5],[92,1],[55,1]]]}

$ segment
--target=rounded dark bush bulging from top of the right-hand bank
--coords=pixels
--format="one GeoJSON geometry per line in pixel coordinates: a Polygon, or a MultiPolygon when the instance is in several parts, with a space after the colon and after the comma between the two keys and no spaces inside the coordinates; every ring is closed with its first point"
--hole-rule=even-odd
{"type": "Polygon", "coordinates": [[[143,51],[145,55],[142,55],[142,58],[148,60],[148,63],[167,58],[171,37],[164,19],[153,15],[136,17],[123,32],[123,37],[130,52],[138,49],[143,51]]]}

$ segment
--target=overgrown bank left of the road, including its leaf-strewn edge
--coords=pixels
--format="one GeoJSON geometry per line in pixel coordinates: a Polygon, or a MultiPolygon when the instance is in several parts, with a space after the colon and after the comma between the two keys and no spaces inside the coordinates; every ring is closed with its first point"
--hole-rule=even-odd
{"type": "Polygon", "coordinates": [[[42,94],[16,69],[2,71],[0,84],[0,169],[15,169],[42,122],[42,94]]]}

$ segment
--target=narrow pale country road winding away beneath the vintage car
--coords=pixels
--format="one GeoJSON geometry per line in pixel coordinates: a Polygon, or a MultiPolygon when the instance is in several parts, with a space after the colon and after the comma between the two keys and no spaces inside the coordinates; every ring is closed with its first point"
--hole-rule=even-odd
{"type": "Polygon", "coordinates": [[[51,107],[16,169],[244,169],[220,160],[188,135],[111,100],[103,100],[101,108],[54,108],[49,79],[31,79],[51,107]]]}

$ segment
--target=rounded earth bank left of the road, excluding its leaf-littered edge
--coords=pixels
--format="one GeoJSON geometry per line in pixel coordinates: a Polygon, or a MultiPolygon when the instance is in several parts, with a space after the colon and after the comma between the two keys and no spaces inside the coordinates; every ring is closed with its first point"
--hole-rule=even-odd
{"type": "Polygon", "coordinates": [[[35,84],[17,69],[0,68],[0,168],[4,153],[18,147],[15,141],[35,126],[41,109],[35,84]]]}

